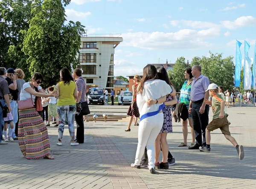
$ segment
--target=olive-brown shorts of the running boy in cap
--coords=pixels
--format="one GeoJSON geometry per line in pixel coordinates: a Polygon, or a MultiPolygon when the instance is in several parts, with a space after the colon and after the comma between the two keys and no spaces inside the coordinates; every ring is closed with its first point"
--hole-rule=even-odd
{"type": "Polygon", "coordinates": [[[213,131],[220,128],[221,132],[224,135],[230,135],[229,125],[230,125],[230,122],[227,120],[227,117],[225,116],[222,119],[221,118],[213,119],[206,128],[209,131],[213,131]]]}

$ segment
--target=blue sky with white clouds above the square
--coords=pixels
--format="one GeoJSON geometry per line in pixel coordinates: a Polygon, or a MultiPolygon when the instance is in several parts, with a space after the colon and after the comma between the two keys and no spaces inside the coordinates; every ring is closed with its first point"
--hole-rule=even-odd
{"type": "MultiPolygon", "coordinates": [[[[143,71],[147,64],[175,63],[184,56],[236,55],[236,39],[256,41],[255,0],[71,0],[67,20],[80,21],[88,34],[121,34],[114,76],[143,71]]],[[[233,59],[235,63],[235,58],[233,59]]]]}

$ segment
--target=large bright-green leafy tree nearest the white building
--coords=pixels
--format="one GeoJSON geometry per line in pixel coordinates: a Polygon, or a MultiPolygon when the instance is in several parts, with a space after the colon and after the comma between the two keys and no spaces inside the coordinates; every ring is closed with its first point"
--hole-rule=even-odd
{"type": "Polygon", "coordinates": [[[80,34],[84,26],[69,21],[64,25],[65,9],[70,0],[35,0],[33,18],[28,31],[23,30],[23,52],[28,56],[29,72],[40,72],[44,85],[55,85],[61,68],[76,68],[81,45],[80,34]]]}

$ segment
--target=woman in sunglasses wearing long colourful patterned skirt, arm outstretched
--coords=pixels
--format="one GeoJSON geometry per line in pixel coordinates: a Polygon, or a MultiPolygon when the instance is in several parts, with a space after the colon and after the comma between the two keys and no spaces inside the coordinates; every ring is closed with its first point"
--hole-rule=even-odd
{"type": "MultiPolygon", "coordinates": [[[[20,100],[36,97],[50,97],[57,93],[46,94],[40,85],[43,82],[41,73],[34,73],[30,82],[23,85],[20,91],[20,100]],[[38,92],[35,91],[37,88],[38,92]]],[[[51,156],[47,127],[35,107],[19,110],[18,140],[22,154],[27,159],[54,159],[51,156]]]]}

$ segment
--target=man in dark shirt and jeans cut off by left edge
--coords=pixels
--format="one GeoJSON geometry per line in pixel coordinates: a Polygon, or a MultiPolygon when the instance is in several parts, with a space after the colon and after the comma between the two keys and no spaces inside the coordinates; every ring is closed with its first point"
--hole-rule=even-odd
{"type": "MultiPolygon", "coordinates": [[[[3,107],[7,106],[9,107],[8,113],[12,112],[12,107],[9,100],[9,87],[8,82],[4,79],[6,75],[6,68],[1,67],[0,68],[0,103],[3,107]]],[[[8,144],[3,140],[3,128],[4,128],[4,119],[3,119],[3,109],[0,108],[0,144],[8,144]]]]}

